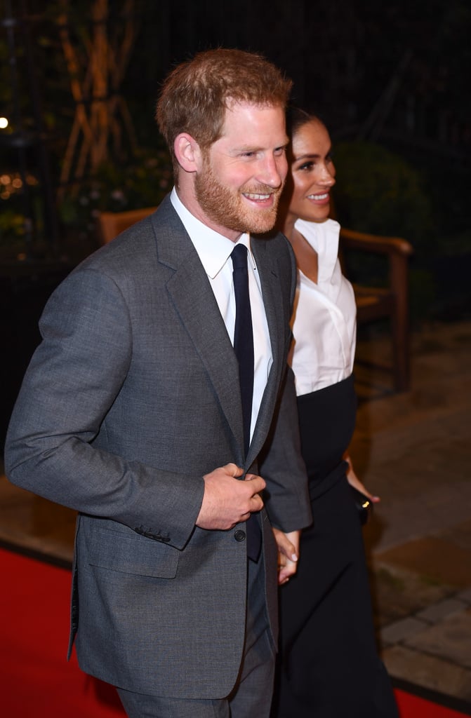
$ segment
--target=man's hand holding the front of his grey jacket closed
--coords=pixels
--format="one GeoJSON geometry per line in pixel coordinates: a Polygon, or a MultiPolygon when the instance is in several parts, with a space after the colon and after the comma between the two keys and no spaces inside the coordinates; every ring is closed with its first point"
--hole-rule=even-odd
{"type": "Polygon", "coordinates": [[[204,496],[196,526],[225,531],[260,511],[265,481],[255,474],[247,474],[241,481],[237,477],[243,473],[235,464],[227,464],[203,477],[204,496]]]}

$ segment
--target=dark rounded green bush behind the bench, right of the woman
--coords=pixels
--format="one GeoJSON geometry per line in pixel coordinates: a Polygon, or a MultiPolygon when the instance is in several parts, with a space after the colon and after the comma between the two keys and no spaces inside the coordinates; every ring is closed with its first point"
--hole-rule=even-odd
{"type": "MultiPolygon", "coordinates": [[[[423,319],[431,311],[436,296],[429,260],[439,251],[432,202],[423,177],[403,157],[366,141],[336,145],[334,163],[337,169],[334,197],[340,223],[360,232],[402,237],[412,244],[411,317],[423,319]]],[[[385,256],[349,252],[345,264],[352,281],[372,286],[385,286],[388,282],[385,256]]]]}

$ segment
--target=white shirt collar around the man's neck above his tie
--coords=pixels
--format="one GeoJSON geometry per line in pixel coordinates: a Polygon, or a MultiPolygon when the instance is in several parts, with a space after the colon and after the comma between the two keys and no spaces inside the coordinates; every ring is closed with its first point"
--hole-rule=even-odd
{"type": "MultiPolygon", "coordinates": [[[[175,187],[173,187],[170,194],[170,202],[172,202],[175,212],[178,214],[178,217],[188,232],[206,274],[211,279],[214,279],[229,259],[235,246],[234,242],[219,234],[219,232],[214,231],[208,227],[208,225],[205,225],[201,220],[198,220],[195,215],[192,215],[185,205],[183,205],[180,197],[178,197],[175,187]]],[[[252,266],[255,269],[255,261],[250,248],[250,234],[242,234],[237,240],[237,244],[244,244],[244,246],[247,247],[252,266]]]]}

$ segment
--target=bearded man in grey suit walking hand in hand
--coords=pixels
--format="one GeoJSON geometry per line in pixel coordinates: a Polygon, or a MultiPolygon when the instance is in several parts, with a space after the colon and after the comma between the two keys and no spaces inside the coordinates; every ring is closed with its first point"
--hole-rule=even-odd
{"type": "Polygon", "coordinates": [[[250,233],[275,222],[290,84],[239,50],[170,73],[157,121],[175,188],[52,294],[9,426],[10,480],[79,512],[70,645],[132,718],[270,710],[277,573],[295,572],[311,515],[286,370],[295,263],[283,236],[250,233]],[[239,243],[248,449],[232,345],[239,243]],[[247,559],[251,516],[262,542],[247,559]]]}

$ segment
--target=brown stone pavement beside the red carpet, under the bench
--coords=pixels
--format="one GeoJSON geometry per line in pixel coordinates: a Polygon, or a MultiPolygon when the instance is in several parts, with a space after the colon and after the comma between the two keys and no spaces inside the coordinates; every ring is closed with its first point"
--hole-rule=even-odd
{"type": "MultiPolygon", "coordinates": [[[[361,337],[361,334],[360,334],[361,337]]],[[[471,322],[429,325],[394,394],[387,337],[357,350],[357,474],[381,497],[365,526],[378,643],[391,676],[470,704],[471,322]]],[[[75,514],[0,477],[0,543],[68,563],[75,514]]]]}

